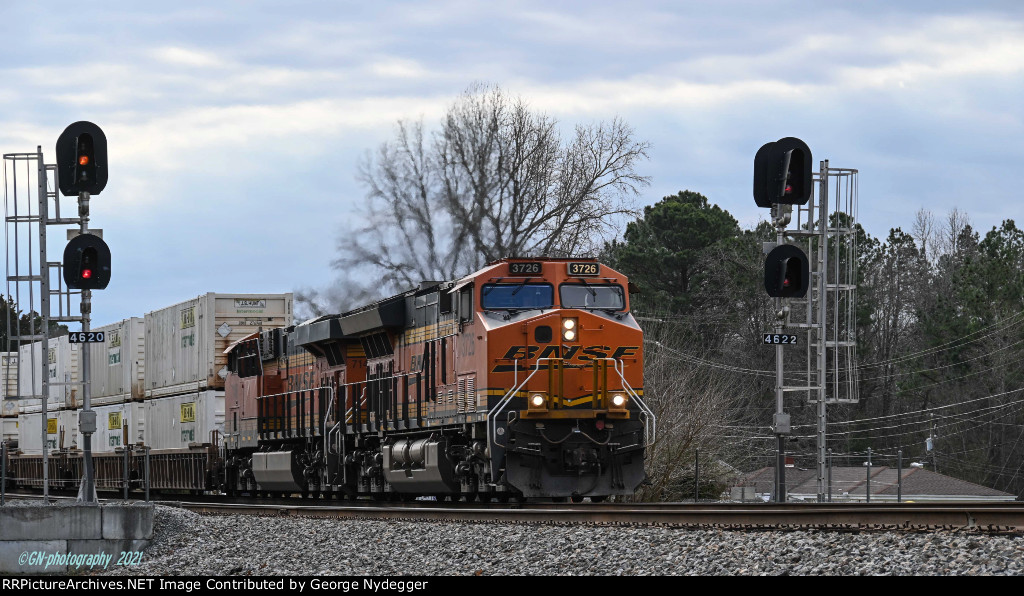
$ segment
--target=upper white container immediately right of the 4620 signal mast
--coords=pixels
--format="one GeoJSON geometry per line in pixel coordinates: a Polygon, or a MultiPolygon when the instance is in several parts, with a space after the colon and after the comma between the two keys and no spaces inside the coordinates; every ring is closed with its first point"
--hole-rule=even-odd
{"type": "MultiPolygon", "coordinates": [[[[84,344],[89,350],[92,405],[141,399],[145,393],[144,320],[133,316],[92,331],[103,332],[103,341],[84,344]]],[[[79,406],[84,406],[81,398],[79,406]]]]}

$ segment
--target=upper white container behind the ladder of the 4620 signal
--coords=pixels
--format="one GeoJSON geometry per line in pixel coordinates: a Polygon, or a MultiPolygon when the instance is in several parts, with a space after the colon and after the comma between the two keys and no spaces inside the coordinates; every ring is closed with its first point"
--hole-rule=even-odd
{"type": "Polygon", "coordinates": [[[23,399],[38,399],[42,396],[42,372],[45,366],[47,382],[50,383],[47,391],[49,407],[78,407],[82,386],[75,383],[81,381],[80,345],[71,343],[67,335],[50,338],[45,354],[42,342],[23,345],[18,349],[18,396],[23,399]]]}

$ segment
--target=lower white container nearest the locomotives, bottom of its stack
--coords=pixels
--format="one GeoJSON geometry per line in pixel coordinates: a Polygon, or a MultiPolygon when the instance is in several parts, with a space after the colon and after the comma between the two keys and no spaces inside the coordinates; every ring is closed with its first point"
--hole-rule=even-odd
{"type": "Polygon", "coordinates": [[[148,399],[145,443],[155,450],[186,449],[190,443],[216,442],[224,434],[224,392],[207,390],[148,399]]]}

